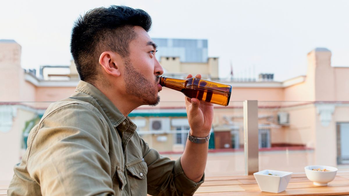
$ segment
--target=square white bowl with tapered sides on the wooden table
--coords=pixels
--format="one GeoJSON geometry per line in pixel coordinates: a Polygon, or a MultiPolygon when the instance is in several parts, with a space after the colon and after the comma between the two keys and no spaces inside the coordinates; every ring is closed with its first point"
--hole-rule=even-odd
{"type": "Polygon", "coordinates": [[[260,172],[256,172],[253,175],[261,191],[269,193],[280,193],[286,190],[288,182],[291,179],[291,174],[292,172],[266,169],[260,172]]]}

